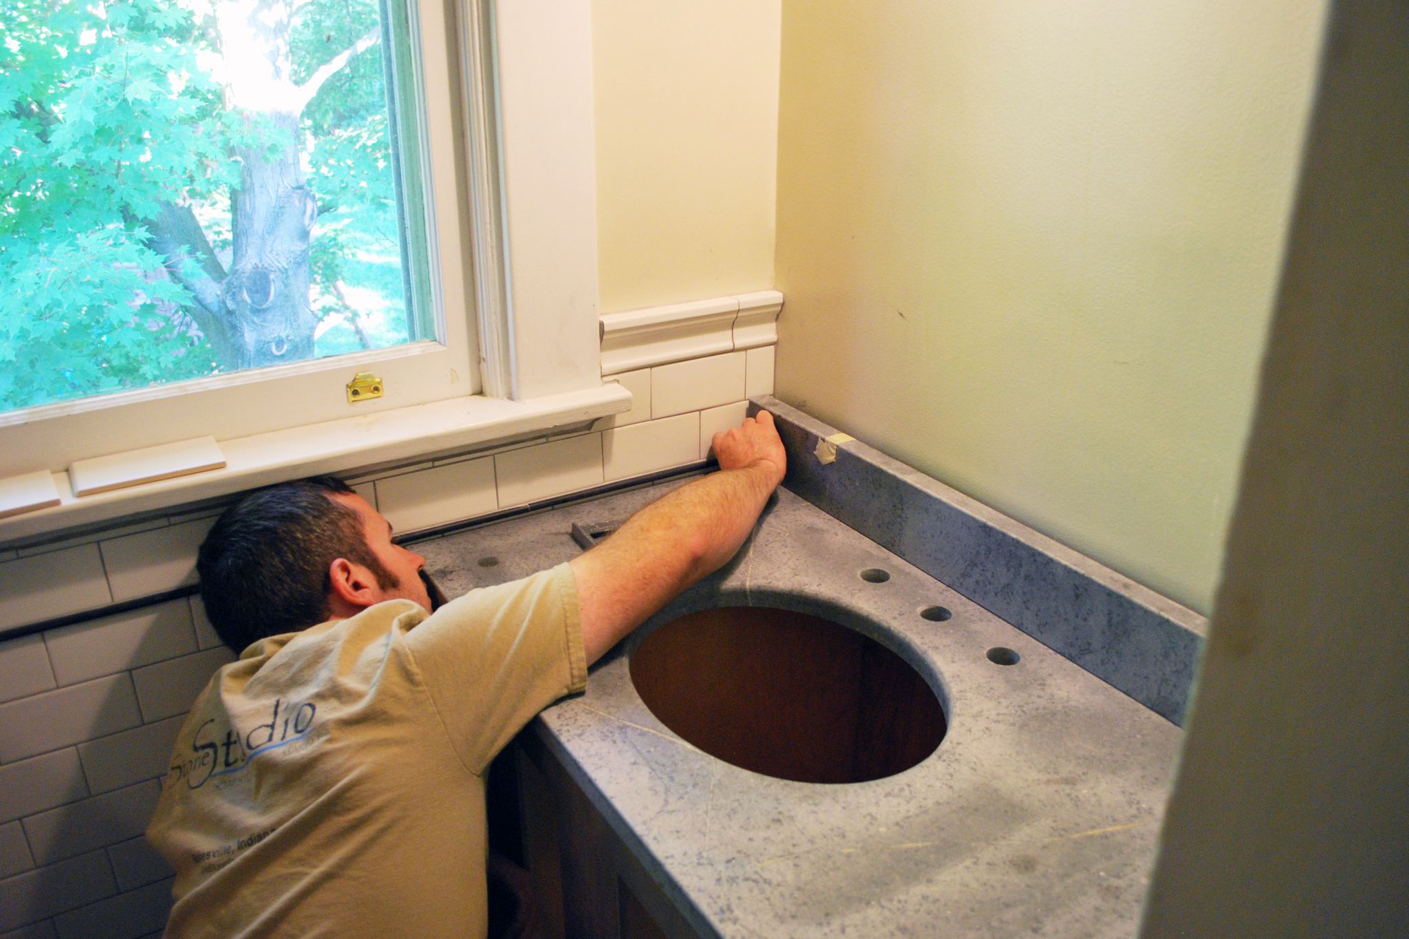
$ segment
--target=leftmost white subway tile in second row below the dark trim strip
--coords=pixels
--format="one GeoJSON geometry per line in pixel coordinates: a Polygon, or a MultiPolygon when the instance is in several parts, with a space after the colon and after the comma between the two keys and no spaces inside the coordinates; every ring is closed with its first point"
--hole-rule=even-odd
{"type": "Polygon", "coordinates": [[[0,762],[48,753],[141,722],[125,672],[20,698],[0,704],[0,762]]]}

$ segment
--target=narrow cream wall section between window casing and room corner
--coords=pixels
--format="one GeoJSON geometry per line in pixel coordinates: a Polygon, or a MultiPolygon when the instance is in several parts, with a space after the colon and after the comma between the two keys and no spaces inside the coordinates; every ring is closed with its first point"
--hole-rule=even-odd
{"type": "Polygon", "coordinates": [[[779,0],[593,0],[602,313],[774,282],[779,0]]]}

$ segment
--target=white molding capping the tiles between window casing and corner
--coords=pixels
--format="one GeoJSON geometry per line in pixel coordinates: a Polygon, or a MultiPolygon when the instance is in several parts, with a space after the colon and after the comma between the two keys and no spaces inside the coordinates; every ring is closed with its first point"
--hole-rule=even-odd
{"type": "Polygon", "coordinates": [[[759,290],[602,317],[602,374],[778,342],[783,296],[759,290]]]}

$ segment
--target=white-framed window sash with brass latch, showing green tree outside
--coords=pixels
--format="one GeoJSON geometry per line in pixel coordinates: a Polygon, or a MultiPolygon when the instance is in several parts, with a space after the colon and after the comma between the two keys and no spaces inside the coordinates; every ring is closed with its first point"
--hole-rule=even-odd
{"type": "Polygon", "coordinates": [[[478,391],[444,17],[7,0],[0,476],[478,391]]]}

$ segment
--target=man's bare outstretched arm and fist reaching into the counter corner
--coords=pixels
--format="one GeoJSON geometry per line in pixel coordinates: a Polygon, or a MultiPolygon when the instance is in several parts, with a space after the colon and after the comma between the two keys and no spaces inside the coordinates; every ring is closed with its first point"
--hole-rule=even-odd
{"type": "Polygon", "coordinates": [[[744,543],[783,479],[774,415],[714,435],[720,470],[664,496],[571,562],[588,663],[744,543]]]}

